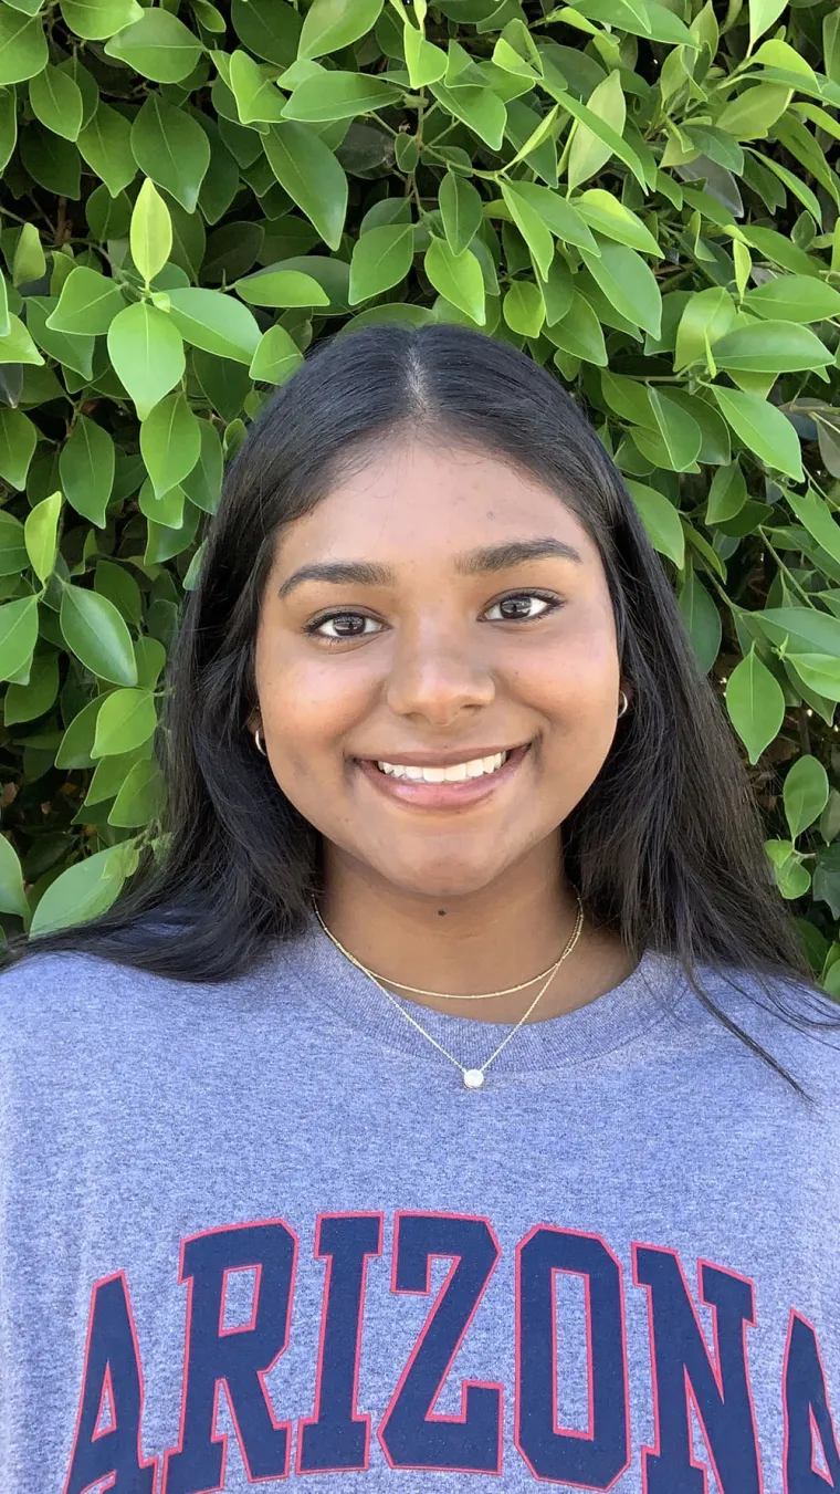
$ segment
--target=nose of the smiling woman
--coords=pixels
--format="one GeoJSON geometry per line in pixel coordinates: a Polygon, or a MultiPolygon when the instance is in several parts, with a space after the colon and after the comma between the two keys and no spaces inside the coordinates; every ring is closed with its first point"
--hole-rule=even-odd
{"type": "Polygon", "coordinates": [[[403,632],[397,639],[385,701],[395,716],[451,726],[495,698],[495,681],[476,642],[454,627],[436,624],[403,632]]]}

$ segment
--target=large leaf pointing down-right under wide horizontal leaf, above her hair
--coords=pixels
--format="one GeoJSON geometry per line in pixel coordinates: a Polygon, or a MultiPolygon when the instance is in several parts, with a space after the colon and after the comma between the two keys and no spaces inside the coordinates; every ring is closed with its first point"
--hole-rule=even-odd
{"type": "Polygon", "coordinates": [[[263,143],[283,191],[324,242],[337,249],[348,211],[348,178],[333,151],[306,124],[291,120],[272,125],[263,143]]]}

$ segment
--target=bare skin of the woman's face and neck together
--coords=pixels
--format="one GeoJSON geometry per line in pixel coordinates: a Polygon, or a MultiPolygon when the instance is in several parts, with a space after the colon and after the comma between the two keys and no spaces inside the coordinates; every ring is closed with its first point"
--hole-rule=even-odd
{"type": "MultiPolygon", "coordinates": [[[[255,675],[249,728],[261,726],[278,784],[324,837],[321,913],[357,959],[385,982],[470,994],[558,958],[577,914],[562,822],[610,750],[619,690],[633,692],[600,553],[554,492],[442,442],[372,451],[282,532],[255,675]],[[501,569],[471,572],[458,559],[545,539],[579,559],[504,557],[501,569]],[[389,575],[297,578],[358,560],[389,575]],[[480,799],[443,808],[400,799],[373,768],[519,746],[528,750],[480,799]]],[[[586,919],[530,1020],[595,999],[633,967],[618,937],[586,919]]],[[[539,989],[409,999],[516,1022],[539,989]]]]}

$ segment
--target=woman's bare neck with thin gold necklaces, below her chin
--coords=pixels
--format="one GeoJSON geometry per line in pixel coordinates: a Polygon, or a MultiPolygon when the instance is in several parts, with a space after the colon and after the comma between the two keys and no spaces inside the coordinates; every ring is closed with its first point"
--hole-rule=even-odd
{"type": "MultiPolygon", "coordinates": [[[[407,892],[334,846],[325,846],[324,867],[321,916],[345,949],[406,1001],[479,1022],[518,1022],[542,982],[485,1001],[419,995],[397,982],[454,995],[519,985],[560,958],[577,919],[577,898],[557,840],[536,847],[498,883],[457,898],[407,892]]],[[[633,967],[616,937],[594,929],[585,917],[574,949],[528,1020],[592,1001],[633,967]]]]}

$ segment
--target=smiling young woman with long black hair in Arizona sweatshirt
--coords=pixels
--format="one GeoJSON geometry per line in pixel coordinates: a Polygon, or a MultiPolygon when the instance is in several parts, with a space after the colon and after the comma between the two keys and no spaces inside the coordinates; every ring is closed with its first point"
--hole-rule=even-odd
{"type": "Polygon", "coordinates": [[[170,684],[0,979],[3,1494],[840,1488],[837,1008],[558,382],[321,344],[170,684]]]}

